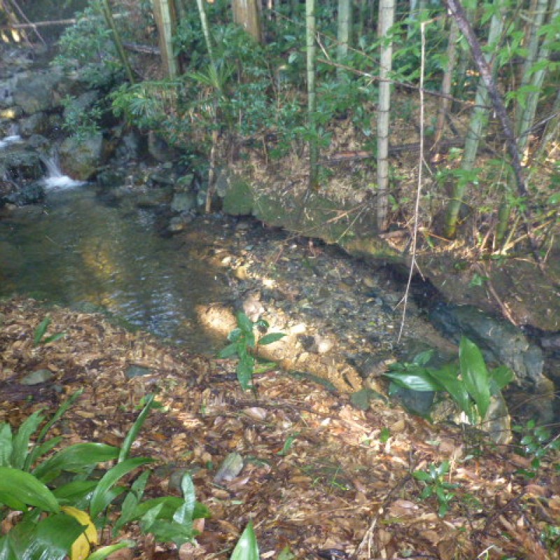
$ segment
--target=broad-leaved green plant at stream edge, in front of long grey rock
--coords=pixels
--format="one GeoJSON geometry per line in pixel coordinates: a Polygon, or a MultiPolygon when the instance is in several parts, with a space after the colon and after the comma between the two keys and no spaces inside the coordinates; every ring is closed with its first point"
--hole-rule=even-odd
{"type": "Polygon", "coordinates": [[[461,337],[458,363],[440,368],[427,367],[431,353],[423,352],[412,363],[396,363],[385,375],[401,387],[412,391],[442,391],[456,402],[472,424],[484,421],[491,395],[514,379],[509,367],[500,366],[489,371],[479,348],[466,337],[461,337]]]}

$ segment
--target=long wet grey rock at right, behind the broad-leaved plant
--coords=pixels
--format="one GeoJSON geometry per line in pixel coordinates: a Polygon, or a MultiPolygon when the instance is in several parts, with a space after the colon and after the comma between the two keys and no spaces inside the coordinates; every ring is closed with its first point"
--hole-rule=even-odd
{"type": "Polygon", "coordinates": [[[545,381],[541,349],[514,325],[471,305],[438,304],[429,316],[454,342],[464,335],[479,346],[486,360],[511,367],[520,386],[534,391],[545,381]]]}

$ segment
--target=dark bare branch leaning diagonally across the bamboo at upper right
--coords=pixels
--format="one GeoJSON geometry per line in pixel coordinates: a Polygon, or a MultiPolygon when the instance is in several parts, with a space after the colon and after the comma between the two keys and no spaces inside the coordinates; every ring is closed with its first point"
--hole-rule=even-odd
{"type": "MultiPolygon", "coordinates": [[[[484,81],[484,85],[486,86],[486,90],[488,90],[488,94],[492,101],[494,110],[496,111],[496,114],[500,119],[500,123],[502,124],[502,129],[505,136],[505,144],[512,160],[513,174],[515,176],[515,181],[517,182],[517,190],[519,191],[519,195],[521,195],[521,197],[523,197],[525,200],[529,200],[529,193],[527,190],[523,169],[521,168],[521,160],[519,158],[517,141],[515,141],[510,118],[507,116],[507,112],[505,111],[505,106],[503,104],[502,98],[500,97],[500,92],[498,92],[496,82],[493,79],[490,65],[488,64],[488,62],[486,62],[486,58],[482,54],[480,43],[477,39],[477,36],[475,35],[475,31],[472,29],[472,26],[467,19],[465,9],[461,5],[461,2],[459,0],[444,0],[444,2],[451,12],[451,15],[453,15],[455,21],[457,22],[459,29],[461,29],[463,35],[468,41],[470,50],[472,50],[472,56],[474,57],[475,63],[480,72],[480,76],[484,81]]],[[[542,259],[540,258],[540,255],[538,253],[538,244],[535,240],[535,237],[533,236],[533,230],[531,226],[531,211],[525,209],[523,211],[523,216],[527,237],[531,246],[531,252],[533,253],[533,258],[535,259],[535,262],[537,262],[541,272],[543,272],[544,274],[545,270],[542,267],[542,259]]]]}

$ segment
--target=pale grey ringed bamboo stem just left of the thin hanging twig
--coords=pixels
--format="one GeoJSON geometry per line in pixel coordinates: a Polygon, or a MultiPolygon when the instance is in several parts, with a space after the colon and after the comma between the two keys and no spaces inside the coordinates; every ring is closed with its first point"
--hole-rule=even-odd
{"type": "Polygon", "coordinates": [[[389,118],[391,111],[391,82],[393,41],[387,34],[395,19],[395,0],[379,0],[379,30],[381,53],[379,58],[379,104],[377,106],[377,228],[388,226],[389,189],[389,118]]]}

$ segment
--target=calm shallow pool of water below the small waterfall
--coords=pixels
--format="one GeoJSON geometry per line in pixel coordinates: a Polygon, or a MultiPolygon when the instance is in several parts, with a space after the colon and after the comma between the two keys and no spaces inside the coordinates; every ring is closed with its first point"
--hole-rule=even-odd
{"type": "Polygon", "coordinates": [[[48,193],[44,209],[0,220],[0,295],[25,293],[64,305],[90,303],[196,351],[216,346],[195,307],[221,301],[227,286],[186,246],[158,235],[151,211],[104,204],[90,187],[48,193]]]}

